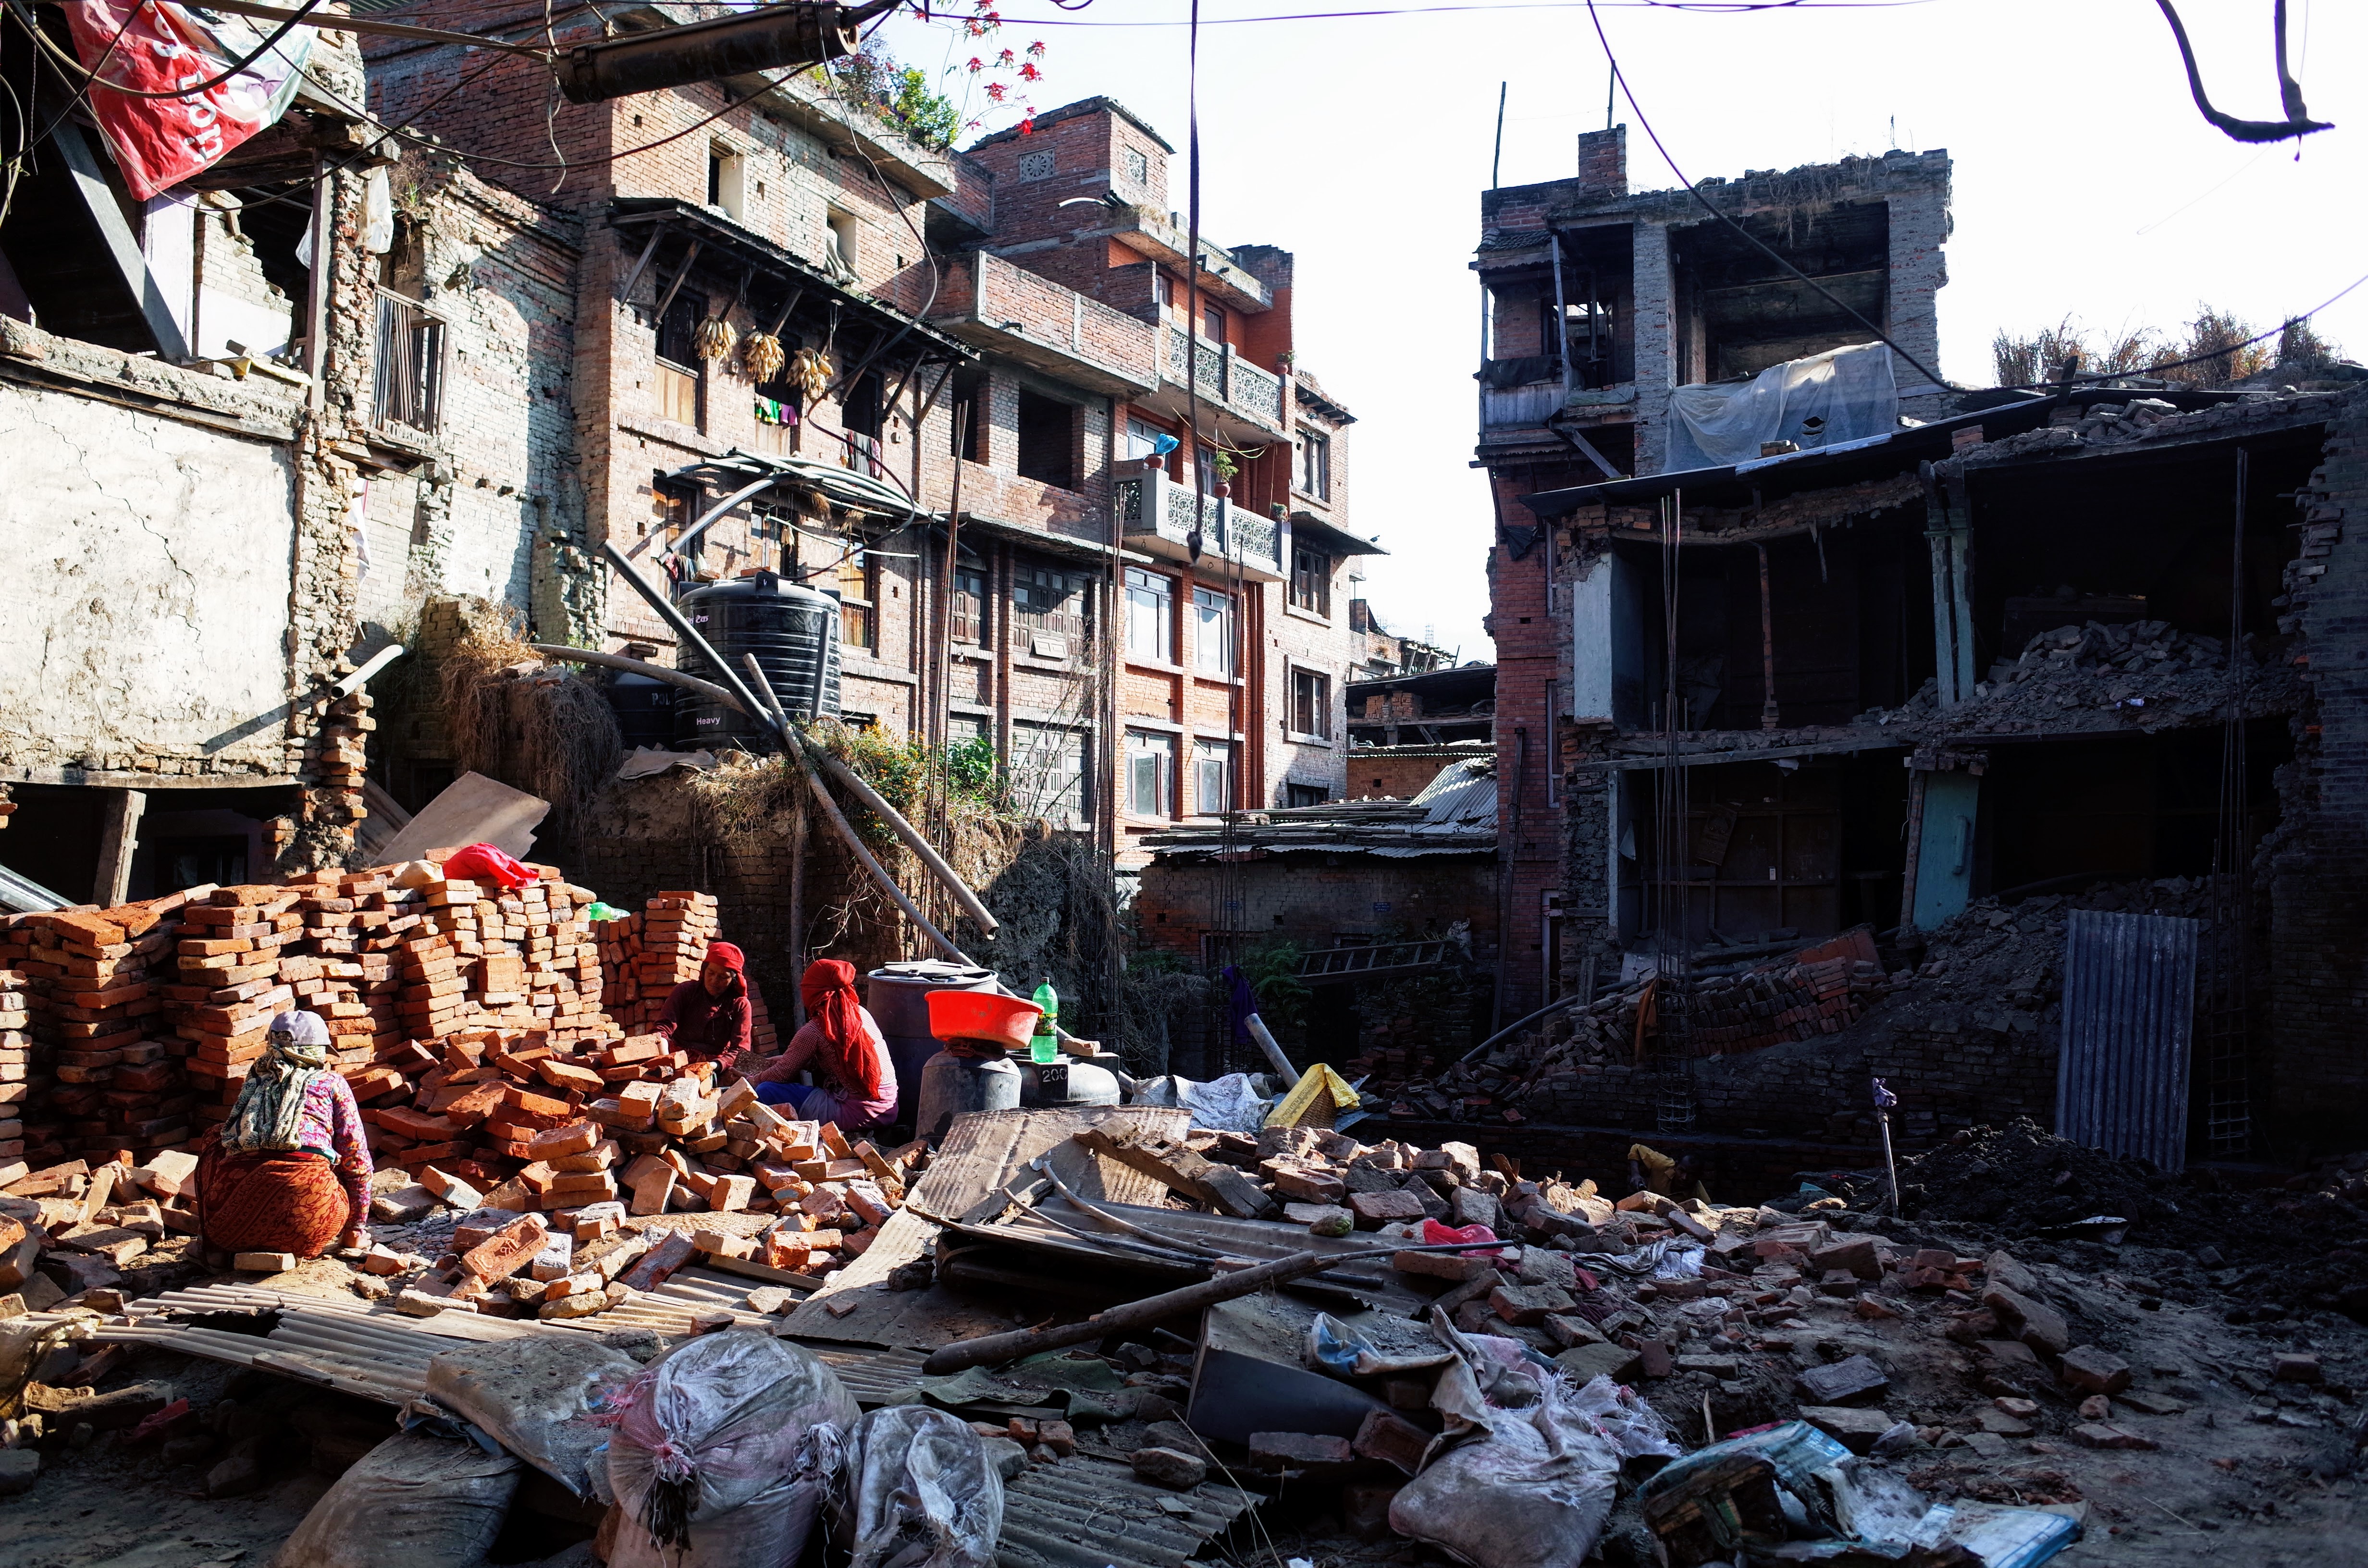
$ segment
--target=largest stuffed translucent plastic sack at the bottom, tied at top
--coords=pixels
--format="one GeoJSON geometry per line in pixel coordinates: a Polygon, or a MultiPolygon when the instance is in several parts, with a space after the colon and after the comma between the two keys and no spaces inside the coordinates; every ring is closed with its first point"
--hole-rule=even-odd
{"type": "Polygon", "coordinates": [[[789,1341],[727,1329],[606,1395],[609,1568],[789,1568],[855,1426],[838,1374],[789,1341]]]}

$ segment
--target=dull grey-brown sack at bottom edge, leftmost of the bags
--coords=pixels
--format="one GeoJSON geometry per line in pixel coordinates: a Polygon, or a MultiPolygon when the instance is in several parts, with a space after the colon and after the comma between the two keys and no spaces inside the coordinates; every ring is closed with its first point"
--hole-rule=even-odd
{"type": "Polygon", "coordinates": [[[474,1442],[398,1433],[336,1478],[275,1568],[478,1568],[526,1466],[474,1442]]]}

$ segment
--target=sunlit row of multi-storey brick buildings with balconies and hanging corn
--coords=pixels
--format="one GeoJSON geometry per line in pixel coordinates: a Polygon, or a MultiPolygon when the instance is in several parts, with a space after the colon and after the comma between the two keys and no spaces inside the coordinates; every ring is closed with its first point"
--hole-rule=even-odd
{"type": "Polygon", "coordinates": [[[414,159],[422,261],[388,291],[457,369],[568,410],[526,452],[431,441],[455,495],[533,497],[438,547],[507,561],[485,585],[542,635],[673,656],[604,540],[677,583],[800,578],[841,597],[848,718],[990,741],[1122,865],[1179,820],[1343,796],[1350,576],[1378,550],[1345,526],[1352,415],[1293,365],[1288,251],[1191,256],[1153,128],[1096,97],[947,154],[819,73],[547,118],[511,64],[372,62],[381,114],[511,187],[414,159]],[[573,308],[514,270],[528,232],[573,244],[573,308]],[[751,358],[765,334],[786,369],[751,358]]]}

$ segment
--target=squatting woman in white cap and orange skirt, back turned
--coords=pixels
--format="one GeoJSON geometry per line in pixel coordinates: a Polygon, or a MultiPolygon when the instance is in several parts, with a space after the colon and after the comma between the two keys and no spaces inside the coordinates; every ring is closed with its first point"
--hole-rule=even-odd
{"type": "Polygon", "coordinates": [[[320,1014],[272,1018],[230,1120],[197,1158],[197,1220],[211,1251],[320,1258],[367,1246],[369,1144],[320,1014]]]}

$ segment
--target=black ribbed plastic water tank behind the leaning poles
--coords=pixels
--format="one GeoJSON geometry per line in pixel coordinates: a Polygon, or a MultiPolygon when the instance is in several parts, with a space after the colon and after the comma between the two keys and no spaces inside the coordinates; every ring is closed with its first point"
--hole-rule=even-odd
{"type": "MultiPolygon", "coordinates": [[[[838,599],[760,571],[694,587],[675,609],[741,680],[748,677],[741,654],[755,654],[791,718],[838,718],[838,599]]],[[[682,649],[682,673],[729,685],[696,649],[682,649]]],[[[677,689],[675,746],[772,751],[774,741],[753,718],[677,689]]]]}

